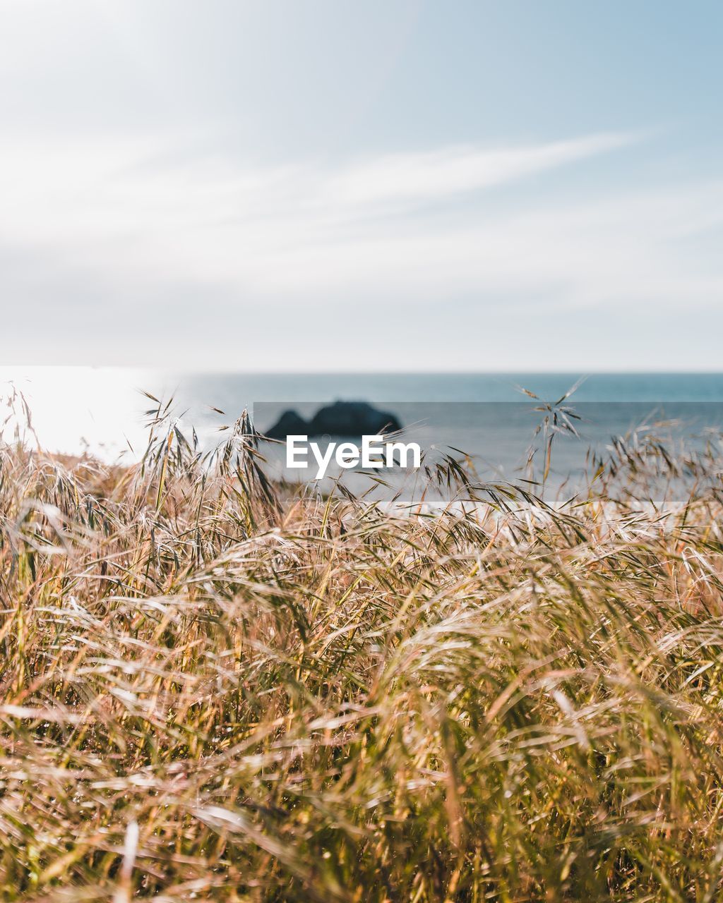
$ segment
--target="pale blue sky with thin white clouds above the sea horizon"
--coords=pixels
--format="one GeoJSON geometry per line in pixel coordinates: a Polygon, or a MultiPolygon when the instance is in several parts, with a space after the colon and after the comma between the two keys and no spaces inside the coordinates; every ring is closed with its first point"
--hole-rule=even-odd
{"type": "Polygon", "coordinates": [[[723,5],[0,0],[5,364],[719,370],[723,5]]]}

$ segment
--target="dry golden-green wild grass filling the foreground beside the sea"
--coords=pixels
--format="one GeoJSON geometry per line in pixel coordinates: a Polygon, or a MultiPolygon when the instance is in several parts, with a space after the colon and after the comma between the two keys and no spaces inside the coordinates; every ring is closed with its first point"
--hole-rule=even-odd
{"type": "Polygon", "coordinates": [[[227,435],[5,436],[4,900],[721,898],[717,447],[408,515],[227,435]]]}

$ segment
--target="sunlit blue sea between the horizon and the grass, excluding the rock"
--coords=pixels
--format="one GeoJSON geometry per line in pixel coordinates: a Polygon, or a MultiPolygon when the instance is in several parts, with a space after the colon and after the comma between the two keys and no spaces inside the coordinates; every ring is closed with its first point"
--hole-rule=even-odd
{"type": "MultiPolygon", "coordinates": [[[[223,440],[223,427],[244,409],[254,414],[263,431],[287,408],[313,413],[337,399],[368,401],[394,413],[408,437],[430,453],[441,455],[450,447],[469,453],[485,479],[512,479],[523,473],[535,428],[549,414],[544,403],[557,401],[576,385],[565,405],[577,414],[577,435],[568,432],[556,438],[555,463],[562,472],[580,470],[589,448],[603,452],[615,436],[631,431],[649,432],[654,426],[677,441],[682,433],[700,438],[723,427],[723,374],[12,368],[0,372],[0,382],[0,394],[7,396],[15,388],[26,398],[33,415],[27,435],[33,442],[37,437],[48,451],[87,451],[106,460],[131,461],[143,452],[147,412],[157,406],[144,392],[170,402],[179,429],[189,435],[195,430],[206,448],[223,440]]],[[[268,451],[278,463],[278,450],[268,451]]]]}

